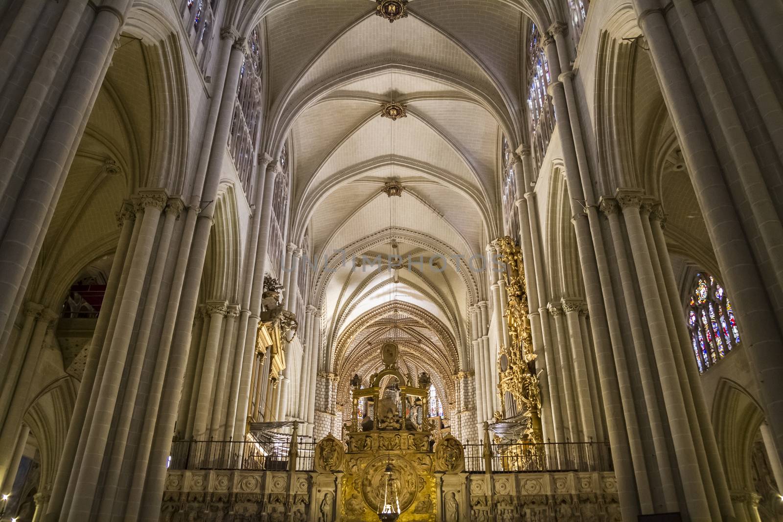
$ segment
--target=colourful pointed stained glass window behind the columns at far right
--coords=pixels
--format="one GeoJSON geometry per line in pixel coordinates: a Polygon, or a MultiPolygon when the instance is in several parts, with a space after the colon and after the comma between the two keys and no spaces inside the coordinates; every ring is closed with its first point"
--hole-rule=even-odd
{"type": "Polygon", "coordinates": [[[696,274],[691,290],[687,326],[698,371],[703,373],[738,346],[740,335],[726,290],[712,275],[696,274]]]}

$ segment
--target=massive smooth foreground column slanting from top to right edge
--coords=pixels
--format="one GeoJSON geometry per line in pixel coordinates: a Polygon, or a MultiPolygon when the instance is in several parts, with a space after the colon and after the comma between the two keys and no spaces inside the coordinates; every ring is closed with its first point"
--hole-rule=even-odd
{"type": "MultiPolygon", "coordinates": [[[[672,121],[688,164],[688,174],[693,185],[699,187],[696,198],[723,275],[723,283],[736,306],[738,322],[745,329],[746,346],[752,347],[747,351],[749,360],[760,382],[761,398],[776,439],[776,447],[783,455],[783,398],[778,382],[778,376],[783,371],[780,323],[770,306],[763,304],[768,301],[759,298],[770,295],[772,285],[763,281],[759,262],[756,261],[760,254],[766,256],[770,253],[759,252],[759,248],[755,251],[752,249],[741,221],[741,218],[757,221],[759,214],[756,213],[767,214],[768,205],[765,203],[758,209],[752,206],[751,211],[756,214],[754,216],[744,216],[738,211],[726,181],[720,175],[723,174],[722,162],[705,128],[704,118],[699,111],[699,100],[693,94],[691,81],[679,58],[680,49],[672,38],[666,17],[657,9],[657,5],[650,5],[648,0],[634,0],[633,5],[640,13],[640,27],[650,45],[655,69],[662,78],[661,90],[669,113],[673,115],[672,121]]],[[[705,49],[709,49],[709,45],[705,49]]],[[[743,180],[742,184],[746,182],[743,180]]],[[[745,193],[745,197],[751,200],[758,201],[766,197],[763,195],[763,185],[750,192],[752,194],[745,193]]],[[[778,229],[777,215],[767,225],[764,236],[770,237],[770,231],[778,229]]],[[[756,228],[759,226],[757,224],[756,228]]]]}

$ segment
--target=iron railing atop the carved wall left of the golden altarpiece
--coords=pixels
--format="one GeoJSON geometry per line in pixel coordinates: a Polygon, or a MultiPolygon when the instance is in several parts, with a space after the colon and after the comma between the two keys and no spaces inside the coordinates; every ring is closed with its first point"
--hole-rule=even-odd
{"type": "MultiPolygon", "coordinates": [[[[316,443],[301,437],[296,470],[312,471],[316,443]]],[[[286,471],[291,459],[290,438],[282,441],[175,441],[169,470],[286,471]]]]}

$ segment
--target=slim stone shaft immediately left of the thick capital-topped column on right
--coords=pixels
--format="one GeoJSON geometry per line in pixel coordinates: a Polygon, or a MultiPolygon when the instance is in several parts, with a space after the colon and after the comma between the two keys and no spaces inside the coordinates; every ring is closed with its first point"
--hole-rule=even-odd
{"type": "Polygon", "coordinates": [[[644,338],[643,323],[637,305],[637,296],[633,291],[636,286],[636,277],[630,269],[630,263],[626,254],[625,239],[622,234],[622,228],[619,218],[619,207],[616,200],[611,198],[601,198],[601,212],[603,212],[609,221],[609,227],[612,230],[612,240],[615,248],[615,260],[622,281],[622,292],[626,301],[626,314],[630,326],[631,337],[633,339],[633,350],[636,354],[637,368],[639,369],[639,379],[641,381],[642,391],[644,393],[644,405],[647,409],[650,431],[652,435],[652,444],[655,448],[655,462],[661,480],[661,488],[667,512],[674,512],[678,509],[677,492],[674,489],[674,479],[671,470],[671,459],[669,458],[669,448],[667,446],[668,437],[664,430],[664,420],[662,412],[659,410],[659,400],[656,391],[657,376],[651,369],[649,360],[649,349],[644,338]]]}

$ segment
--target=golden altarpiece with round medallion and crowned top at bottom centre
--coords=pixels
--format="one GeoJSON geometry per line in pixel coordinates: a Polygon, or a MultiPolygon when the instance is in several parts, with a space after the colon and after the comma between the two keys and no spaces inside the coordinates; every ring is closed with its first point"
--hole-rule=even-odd
{"type": "Polygon", "coordinates": [[[369,386],[361,387],[359,376],[353,377],[345,444],[331,436],[320,441],[316,470],[340,474],[337,507],[345,522],[435,522],[442,520],[436,518],[442,509],[458,520],[461,502],[452,495],[446,506],[438,506],[438,491],[444,474],[464,471],[463,447],[449,435],[435,441],[425,415],[430,377],[421,373],[417,383],[410,382],[397,367],[398,356],[399,347],[386,343],[384,367],[370,376],[369,386]]]}

